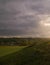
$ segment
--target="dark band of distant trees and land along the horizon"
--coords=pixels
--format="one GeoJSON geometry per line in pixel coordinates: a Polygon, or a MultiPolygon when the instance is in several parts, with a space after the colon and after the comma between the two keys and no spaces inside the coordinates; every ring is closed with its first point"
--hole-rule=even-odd
{"type": "Polygon", "coordinates": [[[0,45],[3,46],[30,46],[43,42],[48,42],[48,40],[45,38],[0,38],[0,45]]]}

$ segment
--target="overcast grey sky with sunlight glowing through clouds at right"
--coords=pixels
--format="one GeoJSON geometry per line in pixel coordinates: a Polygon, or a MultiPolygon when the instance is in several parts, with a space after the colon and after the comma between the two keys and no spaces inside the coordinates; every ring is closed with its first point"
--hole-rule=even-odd
{"type": "Polygon", "coordinates": [[[50,37],[50,0],[0,0],[0,36],[50,37]]]}

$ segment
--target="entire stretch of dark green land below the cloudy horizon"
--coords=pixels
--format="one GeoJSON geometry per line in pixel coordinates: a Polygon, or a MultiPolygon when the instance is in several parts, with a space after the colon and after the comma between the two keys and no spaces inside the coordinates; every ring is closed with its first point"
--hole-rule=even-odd
{"type": "Polygon", "coordinates": [[[0,39],[0,65],[50,65],[50,39],[0,39]]]}

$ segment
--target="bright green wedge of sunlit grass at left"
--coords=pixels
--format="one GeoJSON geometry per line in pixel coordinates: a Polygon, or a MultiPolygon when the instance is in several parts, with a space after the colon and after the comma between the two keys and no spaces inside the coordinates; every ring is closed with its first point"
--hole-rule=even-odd
{"type": "Polygon", "coordinates": [[[23,48],[24,46],[0,46],[0,57],[18,52],[23,48]]]}

